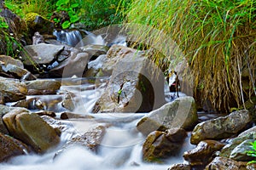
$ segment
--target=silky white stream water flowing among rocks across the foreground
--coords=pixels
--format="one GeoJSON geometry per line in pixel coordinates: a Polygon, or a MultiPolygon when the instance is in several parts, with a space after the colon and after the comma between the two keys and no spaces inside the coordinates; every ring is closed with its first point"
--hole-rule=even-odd
{"type": "MultiPolygon", "coordinates": [[[[108,78],[103,77],[97,79],[97,82],[91,83],[89,79],[71,78],[59,80],[62,82],[61,90],[69,91],[77,94],[77,105],[74,113],[80,115],[90,115],[95,118],[77,118],[70,120],[61,120],[67,126],[67,130],[61,134],[61,144],[58,147],[49,150],[43,155],[30,153],[25,156],[16,156],[8,162],[1,163],[0,169],[4,170],[57,170],[57,169],[167,169],[173,163],[183,162],[182,154],[185,150],[190,150],[193,146],[189,144],[189,137],[185,140],[182,150],[177,156],[167,159],[163,164],[145,163],[142,160],[142,146],[145,137],[137,132],[137,121],[145,114],[92,114],[93,105],[98,99],[104,88],[108,78]],[[82,83],[82,84],[79,84],[82,83]],[[61,145],[65,144],[68,139],[73,138],[77,133],[83,134],[91,127],[104,125],[107,127],[106,133],[102,139],[97,153],[93,153],[81,146],[74,146],[61,153],[55,159],[55,153],[60,150],[61,145]]],[[[168,98],[166,94],[166,98],[168,98]]],[[[34,98],[28,96],[27,98],[34,98]]],[[[61,107],[61,99],[63,94],[37,96],[37,99],[45,103],[45,108],[48,111],[58,113],[65,111],[61,107]],[[52,102],[49,106],[49,104],[52,102]]],[[[36,111],[36,110],[35,110],[36,111]]]]}

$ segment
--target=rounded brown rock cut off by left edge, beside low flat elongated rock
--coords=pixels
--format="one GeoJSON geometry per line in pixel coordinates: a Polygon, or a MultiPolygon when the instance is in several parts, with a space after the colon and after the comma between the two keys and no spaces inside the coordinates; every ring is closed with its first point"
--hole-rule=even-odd
{"type": "Polygon", "coordinates": [[[0,77],[0,94],[3,96],[5,102],[26,99],[26,84],[14,79],[0,77]]]}

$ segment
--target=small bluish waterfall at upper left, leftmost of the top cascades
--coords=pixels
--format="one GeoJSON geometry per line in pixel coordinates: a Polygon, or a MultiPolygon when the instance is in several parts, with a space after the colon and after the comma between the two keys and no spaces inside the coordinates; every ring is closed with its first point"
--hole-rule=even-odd
{"type": "Polygon", "coordinates": [[[53,35],[57,37],[57,41],[67,43],[68,45],[73,47],[75,47],[83,39],[81,32],[78,30],[74,30],[74,31],[55,30],[53,35]]]}

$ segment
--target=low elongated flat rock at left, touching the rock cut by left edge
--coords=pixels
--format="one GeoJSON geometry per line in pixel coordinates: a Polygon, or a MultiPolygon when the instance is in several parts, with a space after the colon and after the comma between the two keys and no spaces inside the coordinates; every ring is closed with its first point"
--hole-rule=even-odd
{"type": "Polygon", "coordinates": [[[52,90],[56,91],[61,88],[61,82],[55,80],[34,80],[25,82],[26,87],[35,90],[52,90]]]}

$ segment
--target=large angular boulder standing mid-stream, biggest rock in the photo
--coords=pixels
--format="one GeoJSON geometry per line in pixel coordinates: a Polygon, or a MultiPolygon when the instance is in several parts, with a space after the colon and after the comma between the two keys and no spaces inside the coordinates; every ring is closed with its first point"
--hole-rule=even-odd
{"type": "Polygon", "coordinates": [[[143,54],[131,51],[115,64],[94,112],[149,112],[166,103],[161,71],[143,54]]]}

